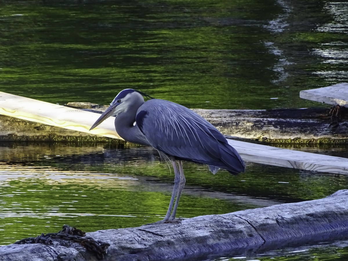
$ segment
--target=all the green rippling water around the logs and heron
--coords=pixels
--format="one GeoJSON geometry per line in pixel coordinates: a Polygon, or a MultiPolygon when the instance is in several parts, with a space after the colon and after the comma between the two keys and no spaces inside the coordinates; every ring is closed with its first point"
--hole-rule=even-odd
{"type": "MultiPolygon", "coordinates": [[[[299,91],[348,81],[348,3],[292,0],[0,2],[0,90],[52,103],[108,104],[137,88],[189,108],[318,106],[299,91]],[[277,99],[271,99],[277,98],[277,99]]],[[[347,157],[347,148],[296,148],[347,157]]],[[[178,215],[317,199],[343,175],[186,163],[178,215]]],[[[163,217],[173,175],[151,149],[0,144],[0,244],[163,217]]],[[[347,260],[345,242],[206,260],[347,260]]]]}

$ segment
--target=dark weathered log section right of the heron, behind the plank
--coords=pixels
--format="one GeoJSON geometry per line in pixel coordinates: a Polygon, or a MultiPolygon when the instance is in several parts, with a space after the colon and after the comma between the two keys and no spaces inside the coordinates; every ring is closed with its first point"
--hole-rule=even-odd
{"type": "Polygon", "coordinates": [[[326,108],[195,111],[223,134],[238,138],[277,143],[348,142],[347,119],[333,128],[326,108]]]}

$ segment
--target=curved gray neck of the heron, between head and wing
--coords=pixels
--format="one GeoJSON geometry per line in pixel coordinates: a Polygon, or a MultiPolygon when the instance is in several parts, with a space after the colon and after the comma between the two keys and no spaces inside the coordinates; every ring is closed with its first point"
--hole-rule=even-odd
{"type": "Polygon", "coordinates": [[[115,129],[122,139],[128,142],[150,145],[144,134],[137,125],[134,126],[137,108],[140,106],[132,106],[127,112],[121,112],[115,118],[115,129]]]}

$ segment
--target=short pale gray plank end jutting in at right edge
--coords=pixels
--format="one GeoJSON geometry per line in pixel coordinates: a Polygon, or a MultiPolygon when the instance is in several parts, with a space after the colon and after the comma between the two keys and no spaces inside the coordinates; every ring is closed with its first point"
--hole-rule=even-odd
{"type": "Polygon", "coordinates": [[[301,90],[300,98],[332,105],[348,105],[348,83],[341,82],[323,88],[301,90]]]}

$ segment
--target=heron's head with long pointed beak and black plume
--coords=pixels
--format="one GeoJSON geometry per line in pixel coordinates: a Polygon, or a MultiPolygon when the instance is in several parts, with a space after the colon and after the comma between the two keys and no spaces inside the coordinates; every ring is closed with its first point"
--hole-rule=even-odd
{"type": "Polygon", "coordinates": [[[106,109],[102,115],[94,122],[89,130],[94,129],[99,124],[101,124],[106,118],[110,116],[115,116],[121,112],[126,112],[131,106],[136,106],[136,109],[144,103],[144,98],[148,97],[153,99],[151,96],[146,95],[139,90],[134,89],[124,89],[117,94],[117,96],[110,103],[108,109],[106,109]]]}

